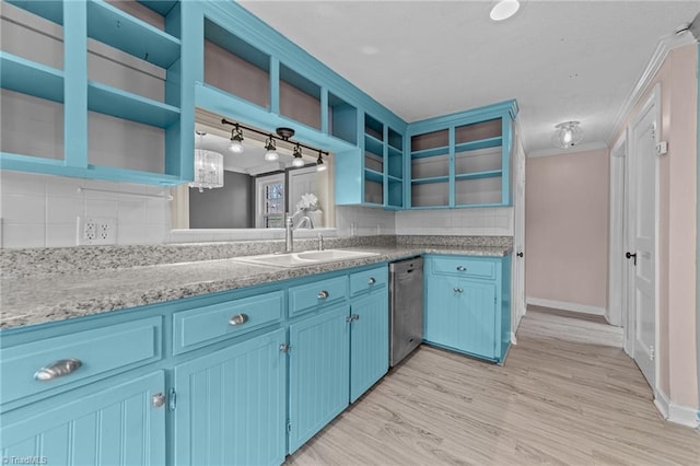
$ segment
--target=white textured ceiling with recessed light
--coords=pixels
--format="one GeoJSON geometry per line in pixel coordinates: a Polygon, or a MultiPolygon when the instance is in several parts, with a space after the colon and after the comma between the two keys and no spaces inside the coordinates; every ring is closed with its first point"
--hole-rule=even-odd
{"type": "Polygon", "coordinates": [[[607,143],[664,36],[699,1],[241,1],[243,7],[407,121],[516,98],[528,153],[580,120],[607,143]]]}

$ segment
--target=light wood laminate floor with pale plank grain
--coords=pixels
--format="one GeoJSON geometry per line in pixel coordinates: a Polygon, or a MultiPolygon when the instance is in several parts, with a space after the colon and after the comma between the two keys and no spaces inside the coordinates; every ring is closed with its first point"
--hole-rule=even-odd
{"type": "Polygon", "coordinates": [[[605,329],[550,321],[528,312],[503,366],[422,346],[287,464],[700,465],[700,432],[662,419],[605,329]]]}

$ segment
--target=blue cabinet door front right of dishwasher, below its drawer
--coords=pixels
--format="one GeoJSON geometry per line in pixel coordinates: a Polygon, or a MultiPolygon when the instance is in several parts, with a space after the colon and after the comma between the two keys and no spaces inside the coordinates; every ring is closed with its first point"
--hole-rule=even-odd
{"type": "Polygon", "coordinates": [[[425,341],[494,359],[495,283],[448,276],[428,276],[425,282],[425,341]]]}

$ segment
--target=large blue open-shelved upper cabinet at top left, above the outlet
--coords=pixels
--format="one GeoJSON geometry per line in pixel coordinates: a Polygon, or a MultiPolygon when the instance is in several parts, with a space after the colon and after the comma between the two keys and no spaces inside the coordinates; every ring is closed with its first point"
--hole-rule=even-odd
{"type": "Polygon", "coordinates": [[[3,170],[166,186],[191,178],[184,3],[9,3],[16,21],[0,56],[3,104],[18,107],[13,127],[40,136],[3,138],[3,170]]]}

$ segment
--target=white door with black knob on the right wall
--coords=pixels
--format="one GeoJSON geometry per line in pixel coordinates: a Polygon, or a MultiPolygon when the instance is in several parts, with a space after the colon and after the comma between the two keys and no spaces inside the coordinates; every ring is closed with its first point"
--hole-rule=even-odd
{"type": "MultiPolygon", "coordinates": [[[[658,97],[658,89],[655,90],[658,97]]],[[[654,97],[642,108],[631,127],[630,151],[630,252],[632,280],[629,310],[634,361],[655,388],[656,383],[656,217],[658,105],[654,97]]]]}

